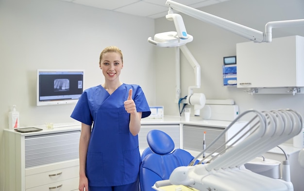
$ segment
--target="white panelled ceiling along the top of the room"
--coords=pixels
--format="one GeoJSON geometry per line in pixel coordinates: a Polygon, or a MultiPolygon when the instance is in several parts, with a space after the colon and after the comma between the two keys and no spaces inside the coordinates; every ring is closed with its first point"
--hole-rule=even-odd
{"type": "MultiPolygon", "coordinates": [[[[115,12],[160,18],[168,14],[167,0],[63,0],[115,12]]],[[[227,0],[174,0],[192,8],[200,8],[227,0]]]]}

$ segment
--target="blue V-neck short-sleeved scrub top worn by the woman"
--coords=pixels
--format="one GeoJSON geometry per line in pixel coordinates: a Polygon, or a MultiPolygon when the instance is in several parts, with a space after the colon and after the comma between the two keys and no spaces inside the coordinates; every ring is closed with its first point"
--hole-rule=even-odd
{"type": "Polygon", "coordinates": [[[84,90],[71,118],[92,125],[86,156],[86,176],[90,186],[119,186],[137,180],[141,162],[138,135],[129,131],[130,114],[124,102],[132,99],[142,118],[151,114],[138,85],[122,84],[111,95],[101,86],[84,90]]]}

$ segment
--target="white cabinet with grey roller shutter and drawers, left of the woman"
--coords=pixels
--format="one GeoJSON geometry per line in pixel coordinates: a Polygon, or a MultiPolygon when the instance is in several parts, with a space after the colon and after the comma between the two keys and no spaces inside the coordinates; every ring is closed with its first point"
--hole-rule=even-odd
{"type": "Polygon", "coordinates": [[[80,126],[4,130],[5,191],[77,191],[80,126]]]}

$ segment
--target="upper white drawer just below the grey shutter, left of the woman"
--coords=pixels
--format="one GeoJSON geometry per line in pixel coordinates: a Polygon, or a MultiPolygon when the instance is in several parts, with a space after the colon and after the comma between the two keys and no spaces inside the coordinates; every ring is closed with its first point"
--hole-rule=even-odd
{"type": "MultiPolygon", "coordinates": [[[[57,185],[58,181],[63,181],[75,177],[77,178],[77,182],[78,182],[79,166],[71,166],[68,168],[61,168],[57,170],[28,175],[25,176],[25,189],[46,185],[50,183],[56,183],[55,185],[57,185]]],[[[78,186],[76,188],[78,188],[78,186]]],[[[53,190],[57,191],[55,189],[53,190]]]]}

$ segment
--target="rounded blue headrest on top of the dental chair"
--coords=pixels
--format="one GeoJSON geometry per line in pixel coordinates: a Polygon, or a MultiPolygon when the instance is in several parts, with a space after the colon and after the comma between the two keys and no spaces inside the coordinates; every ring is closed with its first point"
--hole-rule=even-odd
{"type": "Polygon", "coordinates": [[[160,130],[151,130],[147,134],[147,142],[151,150],[160,155],[170,153],[175,145],[172,138],[160,130]]]}

